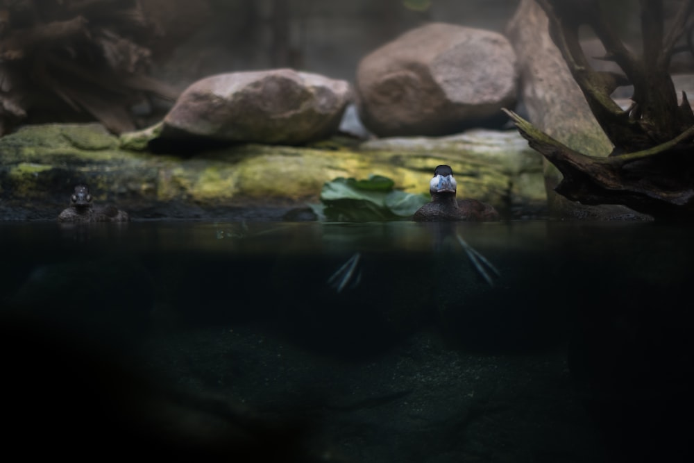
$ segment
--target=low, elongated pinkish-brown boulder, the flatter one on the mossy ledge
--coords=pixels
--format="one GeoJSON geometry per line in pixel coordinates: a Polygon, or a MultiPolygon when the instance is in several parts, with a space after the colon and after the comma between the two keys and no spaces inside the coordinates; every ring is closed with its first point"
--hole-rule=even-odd
{"type": "Polygon", "coordinates": [[[335,133],[350,85],[292,69],[234,72],[197,81],[164,118],[162,137],[301,144],[335,133]]]}

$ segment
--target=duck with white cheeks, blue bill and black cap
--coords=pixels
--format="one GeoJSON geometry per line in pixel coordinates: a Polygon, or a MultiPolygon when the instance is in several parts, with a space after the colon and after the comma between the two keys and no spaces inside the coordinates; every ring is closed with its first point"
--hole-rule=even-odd
{"type": "Polygon", "coordinates": [[[499,213],[492,205],[477,199],[456,201],[456,191],[457,183],[450,166],[437,166],[434,169],[434,177],[429,182],[432,200],[419,208],[412,216],[412,220],[416,222],[499,220],[499,213]]]}

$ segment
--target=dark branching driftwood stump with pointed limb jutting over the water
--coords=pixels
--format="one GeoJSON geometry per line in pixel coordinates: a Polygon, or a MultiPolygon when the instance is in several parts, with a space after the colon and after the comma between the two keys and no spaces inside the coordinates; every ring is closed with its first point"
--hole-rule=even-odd
{"type": "Polygon", "coordinates": [[[691,37],[694,1],[681,2],[668,28],[661,0],[641,2],[641,56],[613,33],[597,1],[537,3],[548,16],[552,40],[613,145],[607,158],[585,155],[507,112],[530,146],[564,175],[557,192],[584,204],[627,205],[657,218],[694,218],[694,113],[686,94],[678,105],[669,74],[677,45],[691,37]],[[604,59],[616,62],[623,74],[591,67],[579,44],[578,30],[584,24],[604,44],[604,59]],[[634,86],[633,103],[623,109],[610,95],[627,83],[634,86]]]}

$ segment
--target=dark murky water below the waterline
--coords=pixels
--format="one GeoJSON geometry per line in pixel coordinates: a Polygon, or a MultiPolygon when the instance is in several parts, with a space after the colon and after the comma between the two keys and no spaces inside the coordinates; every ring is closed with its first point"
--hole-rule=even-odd
{"type": "Polygon", "coordinates": [[[253,461],[691,456],[686,227],[3,223],[0,237],[18,445],[253,461]]]}

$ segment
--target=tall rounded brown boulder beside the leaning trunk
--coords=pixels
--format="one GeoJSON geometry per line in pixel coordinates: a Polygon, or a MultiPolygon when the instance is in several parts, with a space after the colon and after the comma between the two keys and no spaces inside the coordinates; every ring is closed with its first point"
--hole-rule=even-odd
{"type": "Polygon", "coordinates": [[[448,135],[505,121],[516,55],[503,35],[434,23],[373,51],[357,69],[359,113],[380,136],[448,135]]]}

